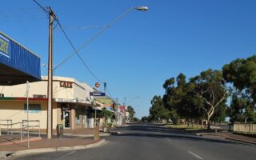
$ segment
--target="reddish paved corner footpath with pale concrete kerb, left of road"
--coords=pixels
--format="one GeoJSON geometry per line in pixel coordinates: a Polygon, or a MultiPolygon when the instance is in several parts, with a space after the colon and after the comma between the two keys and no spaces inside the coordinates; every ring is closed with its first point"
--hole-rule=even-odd
{"type": "MultiPolygon", "coordinates": [[[[110,136],[110,133],[100,132],[99,136],[110,136]]],[[[54,134],[52,139],[47,139],[44,132],[42,132],[41,138],[38,137],[37,133],[31,132],[29,148],[26,134],[22,137],[22,141],[19,134],[2,134],[2,136],[0,136],[0,159],[22,154],[81,150],[100,146],[104,143],[106,143],[104,139],[94,141],[94,130],[92,129],[64,130],[62,138],[58,138],[57,135],[54,134]]]]}

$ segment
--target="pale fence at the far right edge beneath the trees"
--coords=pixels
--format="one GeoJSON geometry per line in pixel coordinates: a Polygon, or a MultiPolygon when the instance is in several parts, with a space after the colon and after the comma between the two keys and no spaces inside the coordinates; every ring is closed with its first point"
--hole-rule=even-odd
{"type": "Polygon", "coordinates": [[[234,124],[234,132],[243,134],[256,134],[256,124],[234,124]]]}

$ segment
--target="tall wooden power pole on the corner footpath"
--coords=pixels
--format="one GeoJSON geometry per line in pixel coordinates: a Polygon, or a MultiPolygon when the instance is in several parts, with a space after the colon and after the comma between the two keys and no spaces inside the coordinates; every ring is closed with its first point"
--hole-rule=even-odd
{"type": "Polygon", "coordinates": [[[47,108],[47,138],[53,134],[53,24],[56,20],[54,11],[49,7],[49,54],[48,54],[48,108],[47,108]]]}

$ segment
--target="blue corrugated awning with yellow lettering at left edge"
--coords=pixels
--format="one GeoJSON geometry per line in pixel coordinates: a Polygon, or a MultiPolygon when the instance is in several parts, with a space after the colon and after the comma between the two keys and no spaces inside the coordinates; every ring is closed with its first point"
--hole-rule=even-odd
{"type": "Polygon", "coordinates": [[[0,32],[0,85],[41,80],[40,58],[0,32]]]}

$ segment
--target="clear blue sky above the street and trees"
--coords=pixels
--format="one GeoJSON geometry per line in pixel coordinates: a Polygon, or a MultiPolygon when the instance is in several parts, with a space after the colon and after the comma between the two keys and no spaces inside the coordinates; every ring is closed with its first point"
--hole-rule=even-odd
{"type": "MultiPolygon", "coordinates": [[[[51,6],[78,48],[101,28],[72,30],[71,26],[104,26],[132,6],[132,11],[79,53],[94,74],[107,82],[110,94],[134,106],[136,116],[148,114],[150,100],[162,95],[162,84],[179,73],[187,78],[209,68],[221,69],[235,58],[256,50],[254,0],[38,0],[51,6]],[[135,98],[140,97],[140,98],[135,98]]],[[[34,51],[47,63],[48,19],[32,0],[2,0],[0,30],[34,51]]],[[[58,26],[54,29],[54,65],[73,53],[58,26]]],[[[42,67],[42,75],[46,75],[42,67]]],[[[77,56],[54,75],[87,82],[97,80],[77,56]]]]}

